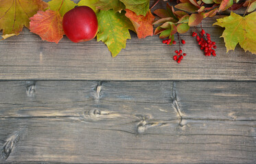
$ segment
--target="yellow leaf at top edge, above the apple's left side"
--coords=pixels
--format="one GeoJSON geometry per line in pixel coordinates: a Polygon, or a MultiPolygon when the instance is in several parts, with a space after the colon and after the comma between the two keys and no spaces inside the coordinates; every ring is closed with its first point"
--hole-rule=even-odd
{"type": "Polygon", "coordinates": [[[52,0],[49,1],[50,10],[59,11],[61,16],[64,16],[66,12],[75,8],[75,3],[71,0],[52,0]]]}

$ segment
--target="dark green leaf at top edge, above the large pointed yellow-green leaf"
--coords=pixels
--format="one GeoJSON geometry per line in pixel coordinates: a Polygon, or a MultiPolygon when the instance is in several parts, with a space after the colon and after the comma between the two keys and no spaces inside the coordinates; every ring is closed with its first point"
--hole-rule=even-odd
{"type": "Polygon", "coordinates": [[[115,12],[119,12],[126,8],[124,3],[119,0],[99,0],[95,3],[96,8],[100,10],[110,10],[113,9],[115,12]]]}

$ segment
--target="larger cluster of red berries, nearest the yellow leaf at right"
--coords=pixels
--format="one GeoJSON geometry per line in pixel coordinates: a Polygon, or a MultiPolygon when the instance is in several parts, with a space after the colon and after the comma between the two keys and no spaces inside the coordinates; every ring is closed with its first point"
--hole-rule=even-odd
{"type": "MultiPolygon", "coordinates": [[[[196,29],[196,31],[198,31],[198,29],[196,29]]],[[[216,42],[211,42],[211,35],[209,33],[205,33],[205,30],[202,29],[200,32],[198,31],[198,33],[193,32],[192,36],[196,36],[196,41],[200,45],[200,49],[205,51],[205,56],[216,56],[216,51],[213,50],[217,48],[215,45],[216,42]]]]}

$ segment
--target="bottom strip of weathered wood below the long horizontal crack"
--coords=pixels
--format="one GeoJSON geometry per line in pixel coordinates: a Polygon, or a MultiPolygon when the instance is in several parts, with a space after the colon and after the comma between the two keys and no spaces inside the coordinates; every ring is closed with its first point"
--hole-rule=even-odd
{"type": "Polygon", "coordinates": [[[254,163],[255,122],[1,119],[2,162],[254,163]],[[138,128],[144,129],[139,131],[138,128]],[[9,153],[10,152],[10,153],[9,153]]]}

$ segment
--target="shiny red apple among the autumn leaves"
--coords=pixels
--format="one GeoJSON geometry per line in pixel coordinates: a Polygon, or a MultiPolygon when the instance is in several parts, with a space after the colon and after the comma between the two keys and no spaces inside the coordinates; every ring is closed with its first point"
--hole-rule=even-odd
{"type": "Polygon", "coordinates": [[[97,16],[88,6],[73,8],[63,16],[64,32],[72,42],[85,42],[97,34],[97,16]]]}

